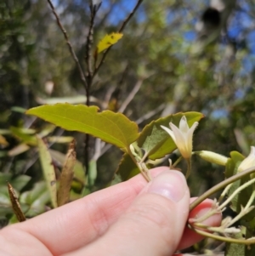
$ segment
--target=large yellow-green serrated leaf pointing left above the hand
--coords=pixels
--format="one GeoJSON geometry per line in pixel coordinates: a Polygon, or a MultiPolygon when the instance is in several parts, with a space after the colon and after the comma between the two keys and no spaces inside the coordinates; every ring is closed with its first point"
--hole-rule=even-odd
{"type": "Polygon", "coordinates": [[[139,137],[138,126],[121,113],[98,112],[97,106],[42,105],[26,111],[69,131],[91,134],[119,148],[127,148],[139,137]]]}

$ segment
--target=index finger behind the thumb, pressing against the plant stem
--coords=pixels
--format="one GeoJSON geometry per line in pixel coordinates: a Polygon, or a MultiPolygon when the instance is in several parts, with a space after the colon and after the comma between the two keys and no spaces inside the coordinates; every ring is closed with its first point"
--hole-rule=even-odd
{"type": "MultiPolygon", "coordinates": [[[[167,169],[155,168],[151,175],[156,176],[167,169]]],[[[104,234],[146,184],[147,181],[139,174],[126,182],[14,225],[13,228],[35,236],[53,255],[69,253],[104,234]]]]}

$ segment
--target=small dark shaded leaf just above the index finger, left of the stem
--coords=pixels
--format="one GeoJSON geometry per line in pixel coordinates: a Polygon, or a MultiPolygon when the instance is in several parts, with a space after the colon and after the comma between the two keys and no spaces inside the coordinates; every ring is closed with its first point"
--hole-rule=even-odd
{"type": "Polygon", "coordinates": [[[122,180],[131,179],[133,176],[139,174],[139,168],[133,162],[128,154],[122,156],[122,160],[116,170],[116,173],[121,175],[122,180]]]}

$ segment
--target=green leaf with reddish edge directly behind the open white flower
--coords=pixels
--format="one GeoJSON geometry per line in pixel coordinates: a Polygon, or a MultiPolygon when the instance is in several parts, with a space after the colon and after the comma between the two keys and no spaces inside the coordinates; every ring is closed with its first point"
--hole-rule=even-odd
{"type": "Polygon", "coordinates": [[[164,157],[176,149],[173,139],[161,128],[161,125],[168,128],[169,122],[173,122],[178,127],[183,116],[187,118],[189,126],[204,117],[199,112],[178,113],[152,121],[144,127],[139,136],[138,145],[144,149],[151,160],[164,157]]]}

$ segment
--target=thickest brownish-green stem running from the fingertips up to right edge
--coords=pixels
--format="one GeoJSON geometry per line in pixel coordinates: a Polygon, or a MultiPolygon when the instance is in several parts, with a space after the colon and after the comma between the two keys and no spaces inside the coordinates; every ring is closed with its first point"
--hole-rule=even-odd
{"type": "Polygon", "coordinates": [[[190,203],[190,211],[193,210],[197,205],[199,205],[201,202],[206,200],[209,196],[216,193],[219,190],[222,190],[225,186],[229,185],[230,183],[235,182],[238,179],[241,179],[242,177],[252,174],[255,172],[255,168],[248,168],[245,171],[235,174],[234,176],[229,177],[228,179],[223,180],[222,182],[218,183],[218,185],[214,185],[210,190],[206,191],[201,196],[197,197],[194,202],[190,203]]]}

